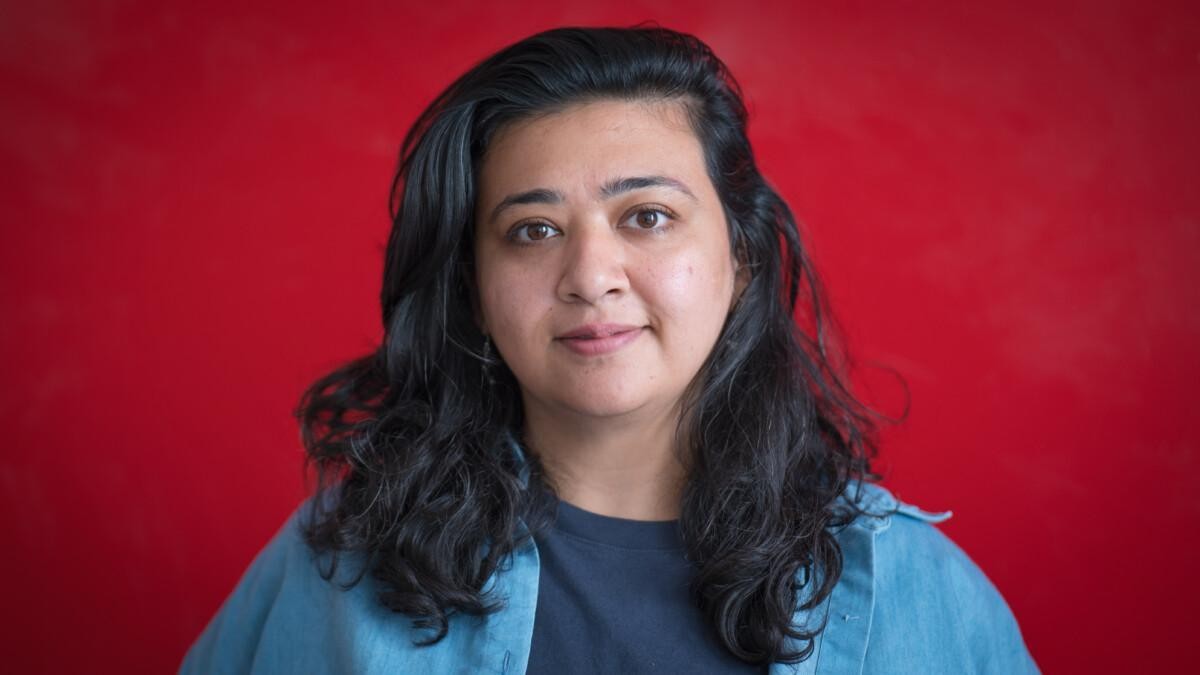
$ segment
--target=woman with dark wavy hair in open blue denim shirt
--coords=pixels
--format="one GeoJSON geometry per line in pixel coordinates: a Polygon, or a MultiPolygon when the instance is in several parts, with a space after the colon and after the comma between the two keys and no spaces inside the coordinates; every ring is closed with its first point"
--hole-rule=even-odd
{"type": "Polygon", "coordinates": [[[298,411],[318,492],[184,670],[1036,671],[946,515],[868,482],[745,120],[662,29],[547,31],[438,96],[383,345],[298,411]]]}

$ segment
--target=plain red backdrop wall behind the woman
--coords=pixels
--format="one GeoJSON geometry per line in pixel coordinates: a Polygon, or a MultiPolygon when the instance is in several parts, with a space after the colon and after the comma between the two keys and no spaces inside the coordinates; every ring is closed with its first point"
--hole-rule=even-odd
{"type": "Polygon", "coordinates": [[[500,46],[642,19],[740,78],[854,354],[911,388],[887,484],[955,510],[1042,667],[1192,661],[1194,4],[448,5],[2,2],[7,668],[178,665],[302,498],[302,387],[378,340],[407,126],[500,46]]]}

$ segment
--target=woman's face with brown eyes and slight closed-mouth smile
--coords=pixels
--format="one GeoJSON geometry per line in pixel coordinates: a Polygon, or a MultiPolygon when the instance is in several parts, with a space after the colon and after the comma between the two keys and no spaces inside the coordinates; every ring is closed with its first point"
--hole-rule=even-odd
{"type": "Polygon", "coordinates": [[[527,411],[671,411],[740,288],[677,102],[590,102],[504,127],[475,222],[478,318],[527,411]]]}

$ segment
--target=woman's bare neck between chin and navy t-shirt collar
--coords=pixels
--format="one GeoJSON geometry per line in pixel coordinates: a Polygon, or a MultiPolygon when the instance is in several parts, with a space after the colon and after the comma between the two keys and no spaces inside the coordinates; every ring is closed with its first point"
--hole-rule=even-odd
{"type": "Polygon", "coordinates": [[[674,520],[686,470],[678,408],[593,418],[526,402],[524,441],[559,498],[631,520],[674,520]]]}

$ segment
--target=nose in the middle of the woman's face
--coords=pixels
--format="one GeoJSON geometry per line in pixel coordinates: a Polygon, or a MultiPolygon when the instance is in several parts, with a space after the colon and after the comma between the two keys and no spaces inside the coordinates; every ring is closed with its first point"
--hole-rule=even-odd
{"type": "Polygon", "coordinates": [[[568,234],[558,298],[590,305],[619,298],[629,291],[625,263],[620,235],[606,220],[576,226],[568,234]]]}

